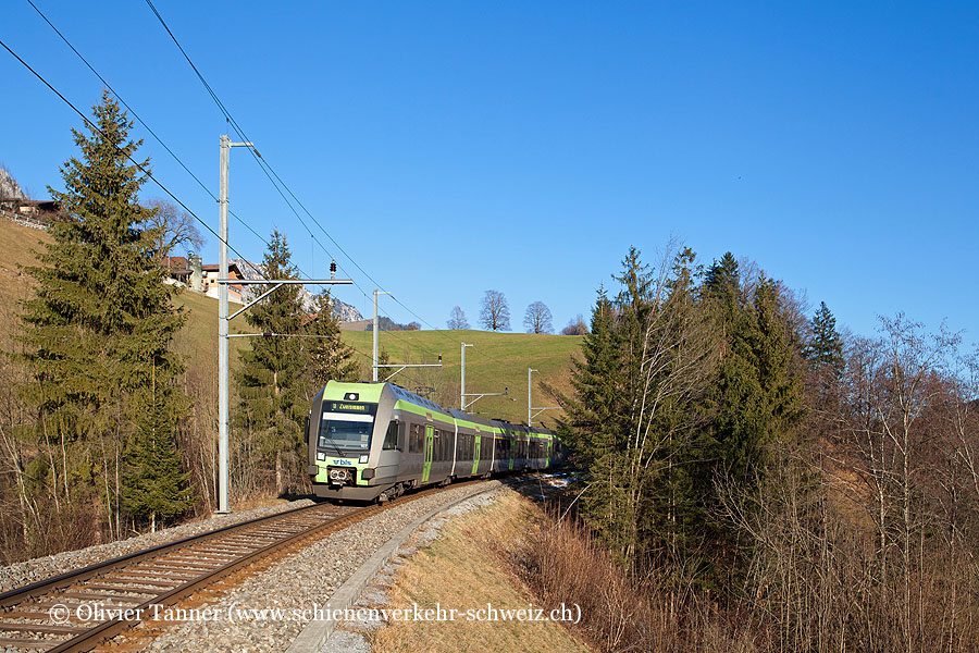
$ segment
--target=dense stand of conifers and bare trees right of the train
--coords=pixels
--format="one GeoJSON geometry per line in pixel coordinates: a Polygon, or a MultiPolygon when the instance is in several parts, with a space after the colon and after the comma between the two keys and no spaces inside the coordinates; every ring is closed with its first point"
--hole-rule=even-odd
{"type": "Polygon", "coordinates": [[[575,508],[662,619],[629,618],[640,648],[658,628],[684,650],[975,650],[979,366],[959,338],[903,315],[844,336],[731,254],[654,269],[632,249],[616,281],[558,396],[575,508]]]}

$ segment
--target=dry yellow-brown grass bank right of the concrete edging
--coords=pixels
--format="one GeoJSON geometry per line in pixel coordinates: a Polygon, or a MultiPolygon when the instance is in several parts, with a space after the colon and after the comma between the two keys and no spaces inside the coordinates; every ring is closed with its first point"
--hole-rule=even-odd
{"type": "MultiPolygon", "coordinates": [[[[543,514],[525,498],[508,493],[487,508],[448,522],[442,537],[421,550],[398,571],[388,608],[499,607],[538,605],[508,564],[524,546],[525,533],[543,514]]],[[[402,651],[590,651],[557,623],[393,621],[373,636],[375,653],[402,651]]]]}

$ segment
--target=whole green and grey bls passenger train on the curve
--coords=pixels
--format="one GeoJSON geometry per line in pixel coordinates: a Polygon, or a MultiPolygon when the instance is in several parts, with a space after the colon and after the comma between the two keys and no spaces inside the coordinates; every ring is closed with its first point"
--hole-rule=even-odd
{"type": "Polygon", "coordinates": [[[306,436],[317,495],[355,501],[547,469],[567,457],[554,431],[444,408],[394,383],[329,382],[313,399],[306,436]]]}

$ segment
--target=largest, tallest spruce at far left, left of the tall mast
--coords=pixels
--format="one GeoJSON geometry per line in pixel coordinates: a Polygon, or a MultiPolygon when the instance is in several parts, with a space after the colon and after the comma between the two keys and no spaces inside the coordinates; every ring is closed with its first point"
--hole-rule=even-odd
{"type": "MultiPolygon", "coordinates": [[[[186,408],[174,384],[182,361],[170,350],[184,316],[154,262],[158,234],[139,226],[151,214],[138,202],[146,177],[131,162],[142,141],[129,138],[133,123],[108,91],[92,113],[85,132],[72,130],[80,157],[61,168],[65,192],[49,188],[70,220],[52,225],[40,264],[27,268],[36,284],[21,315],[20,342],[37,381],[25,398],[40,436],[63,445],[72,468],[61,470],[65,492],[70,480],[108,488],[97,482],[102,473],[114,483],[113,448],[147,428],[140,407],[153,385],[168,389],[157,401],[173,419],[186,408]]],[[[106,494],[111,517],[117,492],[106,494]]]]}

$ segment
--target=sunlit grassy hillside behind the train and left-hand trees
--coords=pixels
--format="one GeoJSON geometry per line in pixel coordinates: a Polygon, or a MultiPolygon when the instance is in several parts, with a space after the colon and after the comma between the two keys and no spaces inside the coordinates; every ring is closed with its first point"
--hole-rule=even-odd
{"type": "MultiPolygon", "coordinates": [[[[33,264],[32,249],[38,241],[49,241],[46,232],[21,226],[12,222],[0,223],[0,343],[7,342],[16,325],[17,300],[29,293],[30,280],[21,274],[17,264],[33,264]]],[[[187,312],[187,322],[175,338],[176,349],[186,356],[188,377],[202,382],[198,396],[213,395],[216,402],[218,373],[218,300],[188,291],[176,297],[176,304],[187,312]]],[[[238,305],[232,305],[232,311],[238,305]]],[[[244,316],[231,325],[232,333],[247,333],[250,329],[244,316]]],[[[371,377],[371,333],[345,331],[344,340],[358,352],[361,378],[371,377]]],[[[474,345],[466,350],[466,390],[476,392],[503,392],[506,397],[485,397],[476,402],[471,411],[487,417],[501,417],[512,421],[526,419],[526,368],[538,372],[534,379],[534,405],[553,406],[554,401],[541,390],[541,382],[562,391],[570,389],[568,371],[573,353],[581,346],[581,336],[531,335],[523,333],[488,333],[484,331],[384,331],[380,334],[381,348],[391,356],[391,362],[437,362],[443,355],[442,368],[408,369],[392,381],[450,407],[459,406],[460,343],[474,345]]],[[[231,365],[237,366],[237,353],[249,346],[249,338],[232,338],[231,365]]],[[[394,370],[382,373],[383,379],[394,370]]],[[[547,410],[538,420],[553,424],[560,411],[547,410]]]]}

